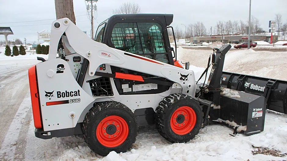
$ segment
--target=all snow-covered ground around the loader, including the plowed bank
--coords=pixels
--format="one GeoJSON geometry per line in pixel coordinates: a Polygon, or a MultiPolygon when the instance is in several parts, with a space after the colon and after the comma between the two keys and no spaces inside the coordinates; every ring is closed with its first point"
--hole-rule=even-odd
{"type": "MultiPolygon", "coordinates": [[[[207,64],[210,50],[178,48],[178,59],[190,61],[190,68],[199,77],[207,64]]],[[[83,137],[71,136],[42,140],[34,135],[34,123],[27,70],[39,63],[39,55],[6,57],[0,47],[0,160],[59,160],[59,161],[193,161],[193,160],[286,160],[287,157],[252,155],[252,147],[268,147],[287,152],[287,116],[267,113],[265,129],[260,134],[235,137],[220,124],[200,130],[188,143],[171,144],[154,128],[141,130],[133,148],[125,153],[111,152],[102,157],[93,153],[83,137]]],[[[45,59],[46,55],[41,55],[45,59]]],[[[230,51],[224,71],[287,80],[287,52],[230,51]]]]}

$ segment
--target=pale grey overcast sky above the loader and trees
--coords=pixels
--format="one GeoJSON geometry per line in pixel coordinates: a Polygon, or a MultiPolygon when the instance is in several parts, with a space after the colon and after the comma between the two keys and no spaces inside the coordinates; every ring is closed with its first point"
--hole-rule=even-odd
{"type": "MultiPolygon", "coordinates": [[[[118,8],[126,0],[99,0],[96,3],[98,8],[97,19],[94,23],[96,30],[98,24],[112,15],[112,10],[118,8]]],[[[249,0],[134,0],[140,5],[142,13],[172,13],[172,26],[179,26],[184,31],[181,24],[193,24],[202,21],[207,29],[214,27],[216,21],[222,20],[248,20],[249,0]]],[[[54,0],[13,0],[0,2],[0,26],[11,27],[14,35],[9,35],[8,39],[20,38],[22,41],[27,38],[27,43],[37,42],[37,31],[50,30],[51,23],[55,19],[54,0]],[[8,23],[44,20],[25,23],[8,23]],[[35,25],[35,26],[27,26],[35,25]]],[[[251,14],[260,20],[263,30],[268,31],[269,20],[274,20],[276,13],[282,14],[283,23],[287,22],[287,0],[252,0],[251,14]]],[[[74,13],[77,26],[87,31],[90,35],[90,22],[86,14],[84,0],[74,0],[74,13]],[[77,22],[78,21],[78,22],[77,22]]],[[[0,35],[0,40],[5,40],[4,35],[0,35]]]]}

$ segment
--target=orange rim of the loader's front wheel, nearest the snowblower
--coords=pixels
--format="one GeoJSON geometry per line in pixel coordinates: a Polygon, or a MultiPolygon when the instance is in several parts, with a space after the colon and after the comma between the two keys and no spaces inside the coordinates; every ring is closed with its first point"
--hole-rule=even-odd
{"type": "Polygon", "coordinates": [[[182,106],[173,112],[170,127],[175,134],[185,135],[191,132],[196,123],[196,114],[191,107],[182,106]]]}

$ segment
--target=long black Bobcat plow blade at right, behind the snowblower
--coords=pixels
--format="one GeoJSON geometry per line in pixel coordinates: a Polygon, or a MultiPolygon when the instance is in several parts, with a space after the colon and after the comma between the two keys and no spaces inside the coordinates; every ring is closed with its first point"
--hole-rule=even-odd
{"type": "Polygon", "coordinates": [[[221,86],[267,99],[267,109],[287,114],[287,81],[223,71],[221,86]]]}

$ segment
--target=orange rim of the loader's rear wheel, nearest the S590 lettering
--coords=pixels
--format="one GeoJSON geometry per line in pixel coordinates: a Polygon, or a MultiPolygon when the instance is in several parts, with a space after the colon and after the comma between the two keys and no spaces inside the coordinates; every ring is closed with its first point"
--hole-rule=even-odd
{"type": "Polygon", "coordinates": [[[96,137],[101,145],[114,148],[121,145],[129,134],[127,122],[119,116],[108,116],[98,124],[96,137]]]}

